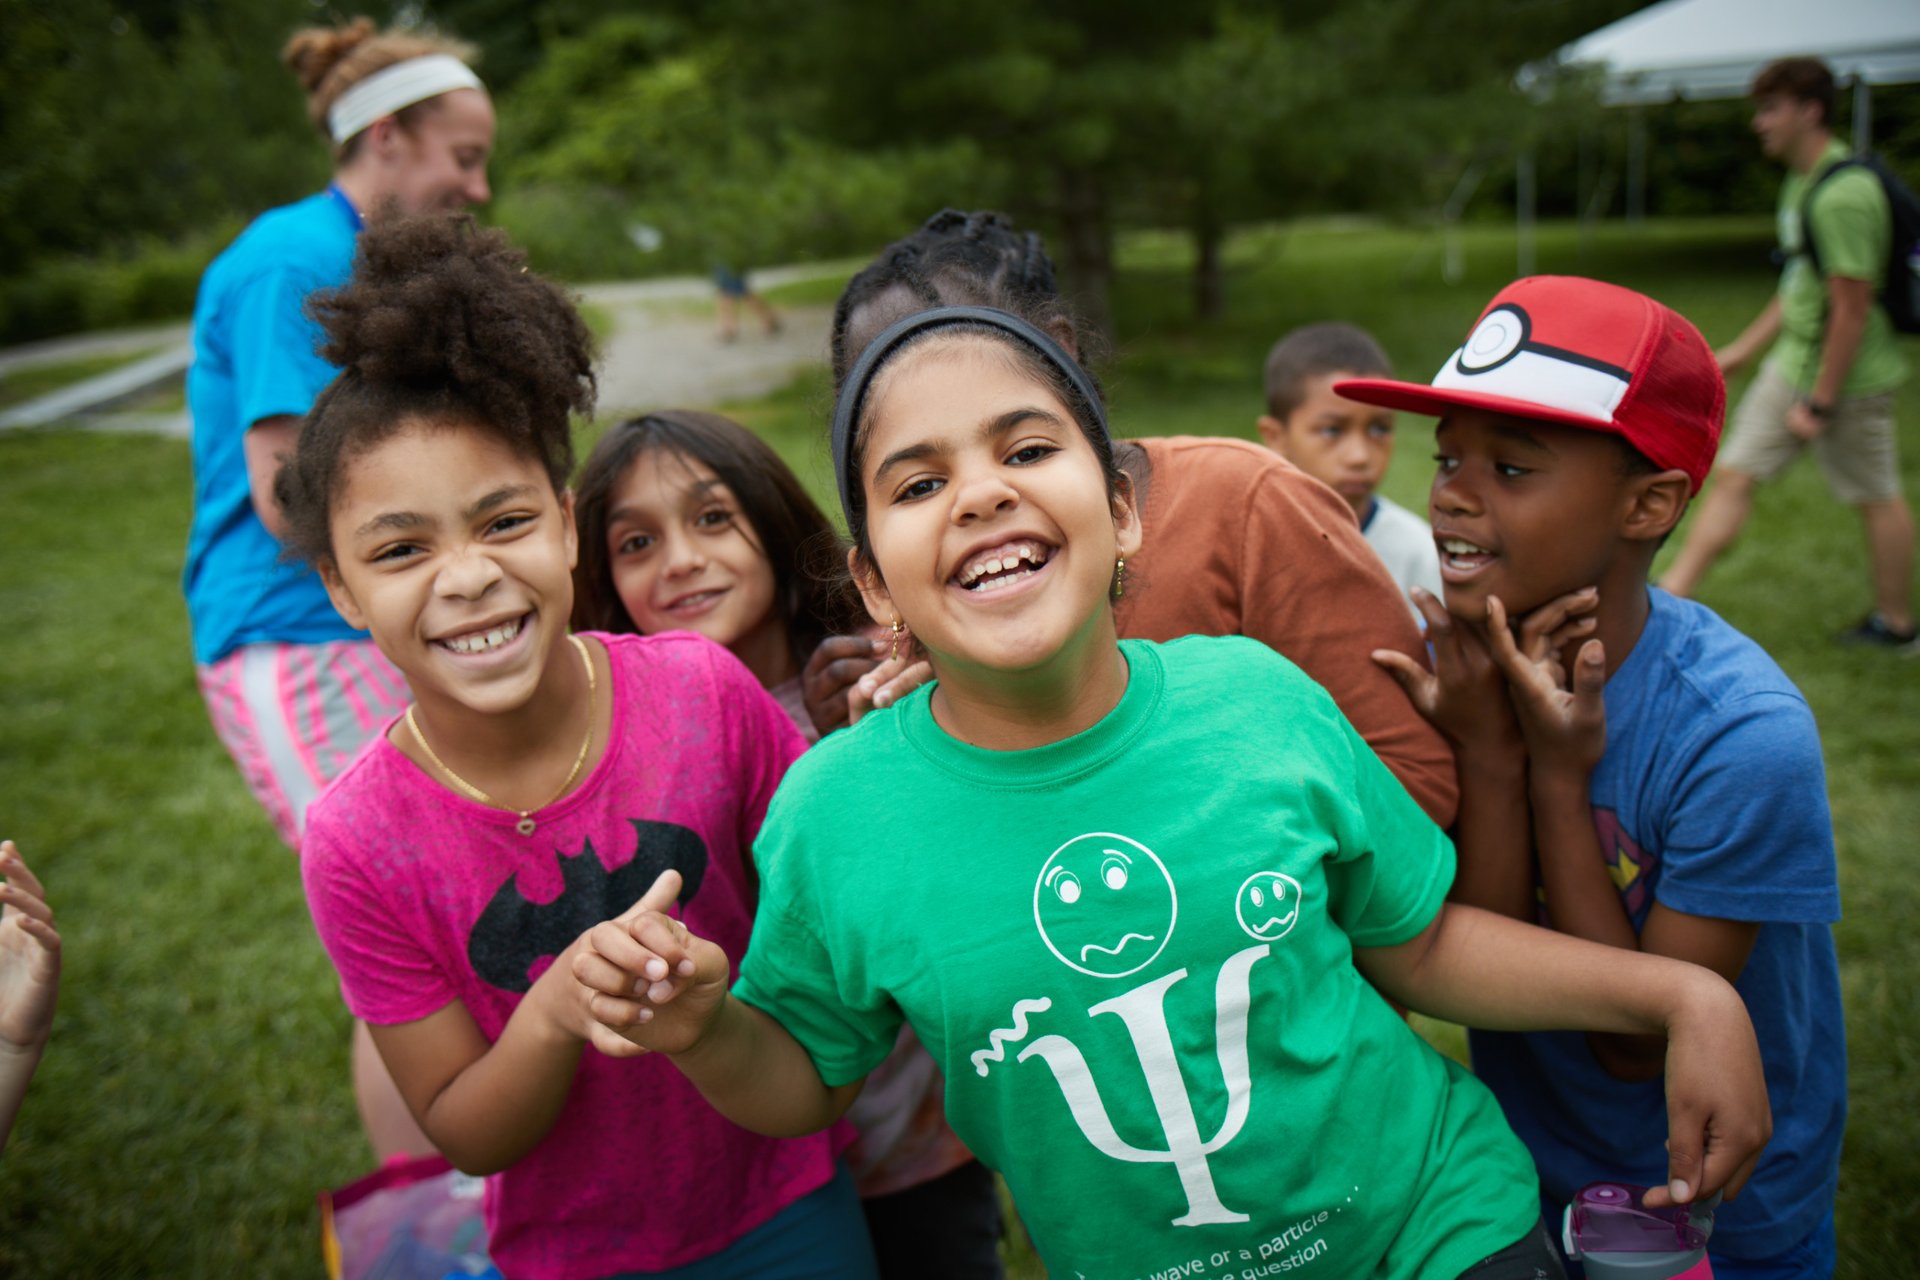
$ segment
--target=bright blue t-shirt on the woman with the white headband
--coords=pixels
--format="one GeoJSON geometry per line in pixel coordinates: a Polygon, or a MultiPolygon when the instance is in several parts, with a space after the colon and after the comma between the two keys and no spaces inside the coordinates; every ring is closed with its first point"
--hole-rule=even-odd
{"type": "Polygon", "coordinates": [[[359,213],[338,188],[263,213],[200,280],[194,367],[194,526],[186,537],[186,612],[194,660],[217,662],[255,641],[357,637],[313,570],[280,558],[253,512],[242,441],[250,426],[305,415],[338,372],[315,353],[307,296],[353,271],[359,213]]]}

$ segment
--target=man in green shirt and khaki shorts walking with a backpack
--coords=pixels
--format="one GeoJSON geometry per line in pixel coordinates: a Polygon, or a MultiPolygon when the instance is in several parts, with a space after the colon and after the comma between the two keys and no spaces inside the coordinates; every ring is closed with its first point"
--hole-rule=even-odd
{"type": "Polygon", "coordinates": [[[1715,484],[1661,585],[1692,595],[1740,535],[1755,487],[1811,447],[1834,497],[1859,510],[1866,528],[1874,610],[1841,639],[1914,652],[1914,518],[1901,493],[1893,430],[1893,390],[1907,380],[1907,361],[1885,311],[1874,305],[1893,215],[1880,180],[1862,167],[1822,180],[1851,155],[1834,136],[1834,73],[1826,63],[1770,63],[1753,79],[1753,104],[1761,148],[1788,167],[1780,184],[1788,259],[1761,315],[1715,353],[1730,374],[1770,345],[1734,413],[1715,484]]]}

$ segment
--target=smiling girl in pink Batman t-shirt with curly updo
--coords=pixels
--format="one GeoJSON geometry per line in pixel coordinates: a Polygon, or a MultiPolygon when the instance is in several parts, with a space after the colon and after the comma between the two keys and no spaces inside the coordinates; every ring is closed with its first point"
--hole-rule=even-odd
{"type": "Polygon", "coordinates": [[[747,848],[804,748],[724,649],[568,635],[591,340],[465,219],[382,223],[324,296],[276,486],[290,545],[413,704],[309,812],[307,900],[428,1138],[484,1173],[509,1276],[872,1276],[849,1134],[760,1138],[589,1050],[584,933],[641,908],[745,946],[747,848]]]}

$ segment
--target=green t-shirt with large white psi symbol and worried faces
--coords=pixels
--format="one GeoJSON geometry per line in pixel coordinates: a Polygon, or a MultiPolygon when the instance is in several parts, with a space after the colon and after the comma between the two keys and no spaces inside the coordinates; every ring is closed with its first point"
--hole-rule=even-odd
{"type": "Polygon", "coordinates": [[[1054,1276],[1453,1276],[1521,1240],[1526,1150],[1352,958],[1432,921],[1446,835],[1265,645],[1121,649],[1125,697],[1048,747],[968,747],[920,689],[806,752],[735,994],[829,1084],[912,1023],[1054,1276]]]}

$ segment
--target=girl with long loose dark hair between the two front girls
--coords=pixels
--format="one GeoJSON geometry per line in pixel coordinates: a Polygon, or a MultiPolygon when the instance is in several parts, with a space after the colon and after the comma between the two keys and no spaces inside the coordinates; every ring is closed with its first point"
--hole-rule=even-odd
{"type": "MultiPolygon", "coordinates": [[[[601,436],[578,499],[574,624],[726,645],[816,741],[804,674],[866,641],[843,635],[860,604],[839,535],[780,455],[716,413],[649,413],[601,436]]],[[[910,660],[889,658],[879,677],[910,660]]],[[[933,1057],[902,1031],[847,1111],[860,1132],[847,1163],[887,1280],[1000,1274],[993,1174],[947,1125],[945,1098],[933,1057]]]]}

